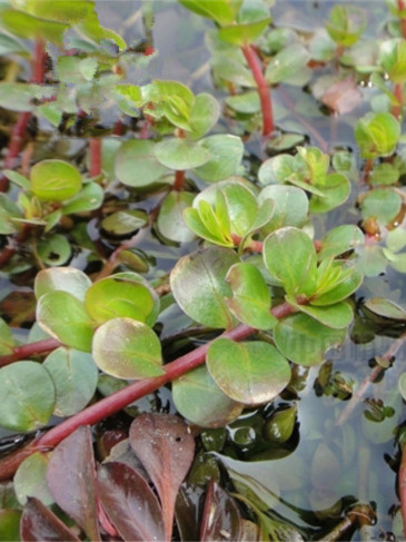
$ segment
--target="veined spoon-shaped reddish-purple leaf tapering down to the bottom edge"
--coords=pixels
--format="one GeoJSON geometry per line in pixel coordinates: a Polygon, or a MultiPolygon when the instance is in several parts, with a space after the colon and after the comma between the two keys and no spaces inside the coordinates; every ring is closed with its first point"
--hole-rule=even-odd
{"type": "Polygon", "coordinates": [[[131,424],[130,443],[158,491],[169,541],[176,496],[194,461],[195,440],[178,416],[141,414],[131,424]]]}

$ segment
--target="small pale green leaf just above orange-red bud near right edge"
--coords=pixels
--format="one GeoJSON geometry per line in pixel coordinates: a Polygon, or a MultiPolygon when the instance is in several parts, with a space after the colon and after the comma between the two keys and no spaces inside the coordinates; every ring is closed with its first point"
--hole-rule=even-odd
{"type": "Polygon", "coordinates": [[[388,225],[399,214],[402,197],[390,188],[368,191],[362,203],[363,218],[375,218],[382,226],[388,225]]]}

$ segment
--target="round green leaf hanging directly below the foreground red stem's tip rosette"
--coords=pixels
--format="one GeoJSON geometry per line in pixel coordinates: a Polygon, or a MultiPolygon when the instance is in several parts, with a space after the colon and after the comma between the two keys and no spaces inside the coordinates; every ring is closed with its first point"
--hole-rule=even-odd
{"type": "Polygon", "coordinates": [[[339,346],[346,329],[331,329],[307,314],[295,314],[279,321],[274,329],[277,348],[299,365],[318,365],[325,353],[339,346]]]}

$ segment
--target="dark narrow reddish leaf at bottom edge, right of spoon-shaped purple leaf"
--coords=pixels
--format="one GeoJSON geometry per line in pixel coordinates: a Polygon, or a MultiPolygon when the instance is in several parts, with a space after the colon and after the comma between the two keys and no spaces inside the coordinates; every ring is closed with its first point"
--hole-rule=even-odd
{"type": "Polygon", "coordinates": [[[234,499],[212,480],[207,486],[200,541],[241,540],[241,516],[234,499]]]}

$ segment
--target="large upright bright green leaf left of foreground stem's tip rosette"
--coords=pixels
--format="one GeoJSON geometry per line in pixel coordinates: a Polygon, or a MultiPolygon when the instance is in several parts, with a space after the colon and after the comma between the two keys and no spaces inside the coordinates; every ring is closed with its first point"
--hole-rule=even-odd
{"type": "Polygon", "coordinates": [[[316,288],[316,249],[305,231],[280,228],[264,242],[264,262],[288,294],[311,295],[316,288]]]}

